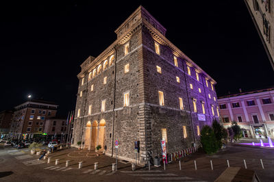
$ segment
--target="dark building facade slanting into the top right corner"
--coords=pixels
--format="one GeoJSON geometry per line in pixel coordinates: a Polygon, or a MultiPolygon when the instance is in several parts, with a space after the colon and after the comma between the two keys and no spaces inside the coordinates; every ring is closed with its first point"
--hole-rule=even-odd
{"type": "Polygon", "coordinates": [[[274,1],[244,1],[274,70],[274,1]]]}

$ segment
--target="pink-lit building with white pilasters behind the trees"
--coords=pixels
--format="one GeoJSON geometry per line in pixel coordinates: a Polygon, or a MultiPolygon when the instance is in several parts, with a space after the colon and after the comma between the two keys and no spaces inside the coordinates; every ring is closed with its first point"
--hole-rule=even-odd
{"type": "Polygon", "coordinates": [[[224,127],[236,121],[247,138],[274,138],[274,88],[240,92],[218,99],[224,127]]]}

